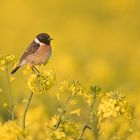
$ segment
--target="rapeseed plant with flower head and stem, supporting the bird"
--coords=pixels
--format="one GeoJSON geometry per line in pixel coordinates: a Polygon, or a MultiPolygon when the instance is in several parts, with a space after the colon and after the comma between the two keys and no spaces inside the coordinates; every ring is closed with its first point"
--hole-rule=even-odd
{"type": "Polygon", "coordinates": [[[26,114],[29,109],[33,94],[47,92],[54,85],[55,79],[56,76],[53,69],[48,71],[41,71],[41,72],[37,71],[37,73],[33,73],[30,75],[27,85],[31,90],[31,94],[28,99],[25,111],[23,113],[23,120],[22,120],[23,129],[25,129],[26,127],[26,114]]]}

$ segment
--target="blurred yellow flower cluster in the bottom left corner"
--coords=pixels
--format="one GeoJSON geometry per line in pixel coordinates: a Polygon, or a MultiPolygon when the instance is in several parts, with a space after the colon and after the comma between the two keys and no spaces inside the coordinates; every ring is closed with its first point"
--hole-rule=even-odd
{"type": "Polygon", "coordinates": [[[0,132],[1,140],[23,139],[24,136],[22,129],[14,121],[0,124],[0,132]]]}

